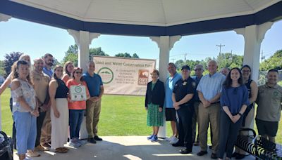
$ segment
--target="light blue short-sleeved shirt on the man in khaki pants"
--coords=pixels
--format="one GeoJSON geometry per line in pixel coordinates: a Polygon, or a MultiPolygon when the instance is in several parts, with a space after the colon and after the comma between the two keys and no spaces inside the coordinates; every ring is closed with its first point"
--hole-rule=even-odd
{"type": "Polygon", "coordinates": [[[218,72],[212,76],[210,76],[210,74],[206,74],[200,80],[200,83],[197,86],[197,91],[202,92],[204,99],[212,100],[214,96],[221,93],[221,88],[225,78],[226,77],[223,74],[218,72]]]}

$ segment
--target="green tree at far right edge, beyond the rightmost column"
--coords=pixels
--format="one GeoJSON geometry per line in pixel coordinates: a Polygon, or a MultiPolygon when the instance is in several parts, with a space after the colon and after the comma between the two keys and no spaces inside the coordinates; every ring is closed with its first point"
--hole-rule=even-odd
{"type": "Polygon", "coordinates": [[[282,50],[278,50],[267,60],[259,65],[259,71],[267,71],[269,69],[282,69],[282,50]]]}

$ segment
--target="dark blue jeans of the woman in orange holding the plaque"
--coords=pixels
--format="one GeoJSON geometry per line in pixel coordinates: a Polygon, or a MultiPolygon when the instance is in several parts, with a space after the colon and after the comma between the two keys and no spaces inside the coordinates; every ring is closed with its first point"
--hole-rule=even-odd
{"type": "Polygon", "coordinates": [[[79,138],[80,126],[84,116],[85,109],[69,109],[69,124],[71,139],[79,138]]]}

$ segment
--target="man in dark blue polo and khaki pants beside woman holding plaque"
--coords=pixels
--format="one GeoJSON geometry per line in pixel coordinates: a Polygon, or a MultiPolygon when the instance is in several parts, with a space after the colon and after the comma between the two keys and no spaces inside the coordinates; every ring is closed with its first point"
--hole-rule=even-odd
{"type": "Polygon", "coordinates": [[[86,81],[90,99],[86,101],[86,129],[88,133],[88,142],[96,143],[96,140],[102,140],[97,135],[98,122],[101,112],[101,98],[104,93],[104,86],[99,74],[95,74],[95,64],[93,61],[87,62],[87,72],[83,74],[86,81]]]}

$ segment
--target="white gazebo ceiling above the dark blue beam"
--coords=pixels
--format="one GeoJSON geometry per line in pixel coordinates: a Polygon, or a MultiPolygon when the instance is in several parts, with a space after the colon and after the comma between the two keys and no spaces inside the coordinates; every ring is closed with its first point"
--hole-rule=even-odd
{"type": "Polygon", "coordinates": [[[281,0],[12,0],[85,22],[171,26],[250,15],[281,0]]]}

